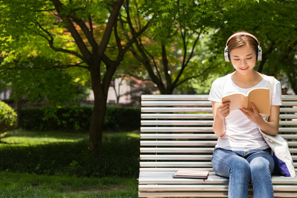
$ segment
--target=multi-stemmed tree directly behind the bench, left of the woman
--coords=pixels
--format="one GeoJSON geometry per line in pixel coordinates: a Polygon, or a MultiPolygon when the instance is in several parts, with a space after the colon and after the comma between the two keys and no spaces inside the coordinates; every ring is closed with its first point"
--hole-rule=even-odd
{"type": "Polygon", "coordinates": [[[144,6],[138,8],[137,0],[132,1],[134,3],[124,4],[126,15],[121,15],[120,19],[127,36],[135,34],[135,27],[142,27],[149,14],[158,13],[148,31],[138,37],[130,50],[145,66],[161,94],[172,94],[174,89],[192,79],[202,81],[214,68],[224,64],[211,59],[211,51],[205,49],[201,39],[210,39],[211,27],[219,23],[223,18],[221,13],[228,7],[254,3],[246,0],[145,0],[144,6]]]}

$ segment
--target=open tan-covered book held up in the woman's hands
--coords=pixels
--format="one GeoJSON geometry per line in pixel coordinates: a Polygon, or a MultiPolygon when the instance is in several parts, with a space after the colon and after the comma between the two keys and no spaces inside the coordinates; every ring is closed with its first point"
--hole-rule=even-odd
{"type": "Polygon", "coordinates": [[[247,108],[252,110],[250,103],[252,102],[259,113],[270,115],[270,96],[268,88],[254,88],[251,89],[247,95],[243,93],[235,93],[224,96],[222,102],[230,102],[230,111],[238,108],[247,108]]]}

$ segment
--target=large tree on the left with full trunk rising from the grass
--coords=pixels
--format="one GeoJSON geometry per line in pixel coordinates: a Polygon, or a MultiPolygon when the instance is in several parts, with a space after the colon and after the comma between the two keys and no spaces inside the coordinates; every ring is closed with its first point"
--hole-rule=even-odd
{"type": "Polygon", "coordinates": [[[68,64],[54,65],[55,68],[80,67],[90,72],[95,101],[89,146],[94,152],[99,152],[101,147],[106,99],[112,76],[125,52],[149,24],[130,37],[129,41],[121,38],[118,34],[118,14],[123,3],[124,0],[0,0],[2,50],[12,51],[16,48],[16,41],[25,43],[27,35],[34,35],[37,39],[45,39],[50,49],[66,53],[70,60],[73,59],[68,64]],[[112,35],[114,41],[111,40],[112,35]]]}

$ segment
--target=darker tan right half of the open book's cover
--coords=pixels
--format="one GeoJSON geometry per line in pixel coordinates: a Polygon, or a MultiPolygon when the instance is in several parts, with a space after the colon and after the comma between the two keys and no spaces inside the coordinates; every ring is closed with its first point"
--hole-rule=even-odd
{"type": "Polygon", "coordinates": [[[257,88],[249,91],[247,109],[252,110],[250,102],[254,103],[259,113],[270,115],[270,96],[268,88],[257,88]]]}

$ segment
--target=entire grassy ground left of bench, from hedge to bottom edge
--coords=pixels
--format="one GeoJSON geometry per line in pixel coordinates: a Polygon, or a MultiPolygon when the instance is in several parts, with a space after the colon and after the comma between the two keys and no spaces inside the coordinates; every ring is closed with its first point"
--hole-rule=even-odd
{"type": "MultiPolygon", "coordinates": [[[[98,167],[112,169],[108,164],[102,166],[100,163],[107,163],[102,160],[96,161],[93,166],[88,166],[88,164],[99,157],[101,157],[100,159],[119,158],[116,153],[123,150],[122,147],[127,148],[132,145],[131,149],[135,148],[135,145],[139,144],[137,143],[139,137],[138,133],[103,134],[102,144],[105,148],[103,153],[106,154],[92,156],[84,154],[87,153],[88,143],[88,134],[86,133],[9,131],[6,137],[0,141],[0,166],[2,166],[0,167],[0,198],[138,198],[137,179],[116,176],[118,172],[122,172],[121,169],[114,169],[112,170],[114,172],[107,173],[106,170],[100,168],[100,170],[96,171],[106,172],[107,174],[107,176],[100,178],[94,176],[77,177],[76,172],[78,172],[77,169],[86,169],[86,167],[91,170],[90,172],[98,167]],[[131,141],[134,145],[131,144],[131,141]],[[112,144],[116,144],[116,146],[112,144]],[[84,150],[79,151],[79,153],[75,150],[73,151],[74,154],[71,153],[77,147],[84,150]],[[111,148],[114,148],[114,150],[107,152],[111,148]],[[53,153],[48,152],[49,149],[52,149],[53,153]],[[82,157],[84,155],[87,157],[82,157]],[[69,156],[72,158],[69,158],[69,156]],[[79,158],[75,158],[76,156],[79,156],[79,158]],[[43,174],[40,169],[46,165],[43,164],[43,161],[46,160],[47,163],[55,163],[49,164],[50,171],[44,171],[45,174],[43,174]],[[63,163],[66,160],[68,162],[63,163]],[[77,163],[76,167],[72,167],[72,160],[77,163]],[[81,160],[90,161],[84,163],[81,160]],[[20,161],[22,162],[20,163],[20,161]],[[58,166],[65,167],[59,169],[58,166]],[[30,174],[26,173],[27,169],[30,169],[28,170],[30,174]],[[55,172],[57,170],[58,172],[55,172]],[[63,172],[63,170],[66,172],[63,172]],[[108,176],[108,174],[113,174],[113,176],[108,176]]],[[[138,149],[135,148],[136,151],[138,149]]],[[[125,154],[127,156],[131,155],[127,151],[119,153],[119,155],[125,154]]],[[[139,154],[133,154],[134,157],[136,155],[139,154]]],[[[122,161],[120,159],[118,162],[115,159],[107,161],[110,164],[118,164],[122,161]]],[[[118,167],[118,165],[115,167],[118,167]]]]}

